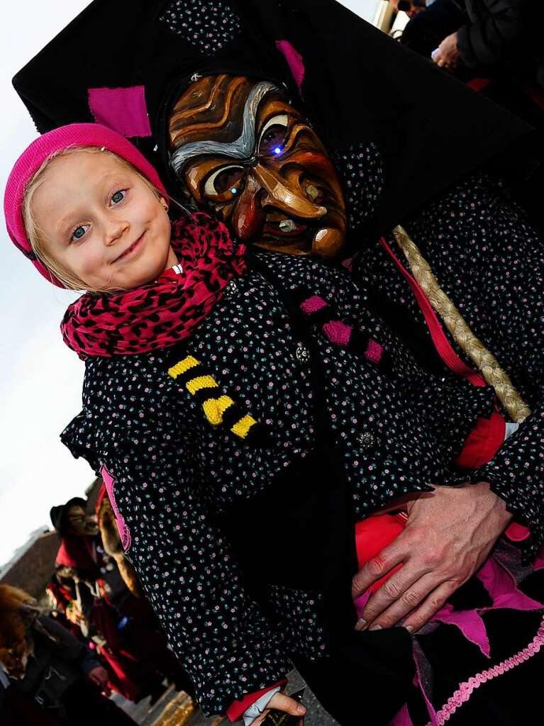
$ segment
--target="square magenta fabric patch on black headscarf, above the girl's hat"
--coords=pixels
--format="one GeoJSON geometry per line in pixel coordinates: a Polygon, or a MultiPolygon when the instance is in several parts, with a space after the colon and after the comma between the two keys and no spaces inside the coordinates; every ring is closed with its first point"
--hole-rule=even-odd
{"type": "Polygon", "coordinates": [[[123,136],[151,136],[144,86],[89,89],[87,93],[94,121],[123,136]]]}

